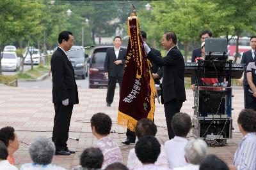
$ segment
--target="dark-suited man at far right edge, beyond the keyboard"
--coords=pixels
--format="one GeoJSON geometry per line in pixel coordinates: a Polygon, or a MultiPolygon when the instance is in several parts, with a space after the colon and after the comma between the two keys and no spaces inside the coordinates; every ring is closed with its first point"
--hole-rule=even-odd
{"type": "MultiPolygon", "coordinates": [[[[241,59],[241,64],[247,65],[249,62],[255,61],[255,50],[256,50],[256,36],[252,36],[250,38],[250,46],[252,47],[252,50],[249,50],[247,52],[243,53],[242,59],[241,59]]],[[[250,86],[248,84],[247,78],[246,78],[246,67],[244,70],[244,80],[243,80],[243,87],[244,87],[244,108],[250,108],[248,106],[248,97],[247,97],[247,92],[250,89],[250,86]]]]}

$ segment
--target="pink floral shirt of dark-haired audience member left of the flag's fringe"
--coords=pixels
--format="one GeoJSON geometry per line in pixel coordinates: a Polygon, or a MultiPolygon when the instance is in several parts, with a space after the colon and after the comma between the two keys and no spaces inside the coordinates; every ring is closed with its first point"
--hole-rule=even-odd
{"type": "Polygon", "coordinates": [[[113,141],[113,138],[106,136],[99,139],[96,143],[93,144],[94,148],[100,148],[104,155],[104,161],[102,164],[102,169],[105,169],[109,164],[114,162],[123,162],[122,152],[119,146],[113,141]]]}

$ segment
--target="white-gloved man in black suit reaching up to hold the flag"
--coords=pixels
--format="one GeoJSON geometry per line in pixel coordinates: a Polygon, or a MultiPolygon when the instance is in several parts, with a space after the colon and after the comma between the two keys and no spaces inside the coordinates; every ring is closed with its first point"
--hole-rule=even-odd
{"type": "Polygon", "coordinates": [[[163,83],[160,87],[163,90],[161,99],[164,104],[169,139],[174,138],[171,127],[172,117],[180,111],[182,103],[186,101],[184,85],[185,64],[176,43],[177,37],[175,32],[168,31],[163,34],[162,45],[164,50],[167,51],[166,57],[163,58],[154,54],[148,45],[144,44],[148,59],[155,62],[158,66],[164,66],[163,83]]]}

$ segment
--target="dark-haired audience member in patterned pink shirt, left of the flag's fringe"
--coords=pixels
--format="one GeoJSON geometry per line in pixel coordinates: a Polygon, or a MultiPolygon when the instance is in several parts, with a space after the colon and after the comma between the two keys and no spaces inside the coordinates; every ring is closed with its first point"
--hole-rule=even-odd
{"type": "Polygon", "coordinates": [[[93,144],[94,148],[100,148],[104,155],[102,169],[114,162],[123,162],[122,152],[119,146],[108,136],[112,126],[111,118],[105,113],[96,113],[91,118],[91,127],[93,135],[98,139],[93,144]]]}

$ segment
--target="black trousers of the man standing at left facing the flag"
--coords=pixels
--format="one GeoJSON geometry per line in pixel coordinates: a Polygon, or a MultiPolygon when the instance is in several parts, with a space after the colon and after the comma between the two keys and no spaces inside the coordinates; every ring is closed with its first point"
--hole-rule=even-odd
{"type": "Polygon", "coordinates": [[[68,131],[73,106],[73,104],[68,106],[64,106],[63,104],[54,104],[55,117],[52,141],[56,147],[56,151],[67,149],[68,131]]]}

